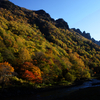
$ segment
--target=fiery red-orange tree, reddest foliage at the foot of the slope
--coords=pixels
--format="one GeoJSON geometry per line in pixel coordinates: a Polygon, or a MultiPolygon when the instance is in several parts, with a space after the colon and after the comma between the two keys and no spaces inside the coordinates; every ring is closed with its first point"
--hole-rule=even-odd
{"type": "Polygon", "coordinates": [[[29,81],[34,81],[37,83],[42,82],[40,69],[33,65],[31,62],[25,62],[21,66],[22,77],[29,81]]]}

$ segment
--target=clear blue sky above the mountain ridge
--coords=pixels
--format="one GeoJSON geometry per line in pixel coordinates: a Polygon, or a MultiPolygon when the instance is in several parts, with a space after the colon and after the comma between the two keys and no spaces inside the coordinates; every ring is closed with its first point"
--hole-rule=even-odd
{"type": "Polygon", "coordinates": [[[79,28],[100,40],[100,0],[9,0],[30,10],[43,9],[54,19],[63,18],[70,28],[79,28]]]}

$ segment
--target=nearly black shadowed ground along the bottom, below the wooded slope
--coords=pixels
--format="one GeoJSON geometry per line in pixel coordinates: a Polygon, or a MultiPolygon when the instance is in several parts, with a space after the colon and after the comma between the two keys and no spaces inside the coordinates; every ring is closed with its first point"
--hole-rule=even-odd
{"type": "MultiPolygon", "coordinates": [[[[96,91],[96,89],[98,91],[98,88],[95,87],[96,89],[87,88],[87,90],[80,89],[77,91],[71,90],[69,92],[66,92],[70,88],[82,85],[83,82],[84,81],[76,82],[75,84],[70,86],[54,86],[40,89],[36,89],[32,86],[9,87],[5,88],[4,90],[0,89],[0,100],[75,100],[74,98],[76,98],[76,100],[86,100],[84,98],[81,98],[81,96],[85,96],[86,92],[88,92],[89,94],[91,93],[91,91],[96,91]]],[[[88,96],[89,95],[86,95],[86,97],[88,96]]]]}

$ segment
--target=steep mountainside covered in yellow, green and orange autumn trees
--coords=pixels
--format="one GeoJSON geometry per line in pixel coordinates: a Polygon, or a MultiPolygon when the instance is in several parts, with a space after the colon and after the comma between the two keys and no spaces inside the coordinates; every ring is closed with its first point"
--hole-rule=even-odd
{"type": "Polygon", "coordinates": [[[63,19],[0,1],[1,83],[67,85],[99,71],[100,47],[63,19]]]}

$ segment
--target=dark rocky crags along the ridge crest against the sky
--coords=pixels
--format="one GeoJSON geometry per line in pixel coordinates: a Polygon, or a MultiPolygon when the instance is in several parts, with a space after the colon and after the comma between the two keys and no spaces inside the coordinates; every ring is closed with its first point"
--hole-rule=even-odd
{"type": "MultiPolygon", "coordinates": [[[[6,2],[10,2],[9,0],[1,0],[1,1],[6,1],[6,2]]],[[[10,2],[11,3],[11,2],[10,2]]],[[[13,3],[12,3],[13,4],[13,3]]],[[[19,6],[17,6],[17,7],[19,7],[19,6]]],[[[10,7],[9,7],[10,8],[10,7]]],[[[25,11],[32,11],[32,12],[35,12],[36,14],[39,14],[39,16],[43,16],[43,18],[42,19],[44,19],[44,18],[48,18],[48,19],[46,19],[46,20],[48,20],[48,21],[53,21],[53,22],[56,22],[56,27],[61,27],[61,28],[63,28],[63,29],[69,29],[69,25],[68,25],[68,23],[66,22],[66,21],[64,21],[64,19],[62,19],[62,18],[58,18],[57,20],[54,20],[53,18],[51,18],[51,16],[50,16],[50,14],[48,14],[48,13],[46,13],[43,9],[40,9],[40,10],[37,10],[37,11],[35,11],[35,10],[28,10],[28,9],[26,9],[26,8],[22,8],[22,9],[25,9],[25,11]],[[57,22],[59,22],[59,23],[57,23],[57,22]]],[[[85,38],[87,38],[87,39],[89,39],[89,40],[92,40],[92,42],[94,42],[94,43],[96,43],[97,45],[99,45],[100,46],[100,41],[97,41],[97,40],[95,40],[94,38],[91,38],[91,35],[90,35],[90,33],[86,33],[85,31],[83,31],[83,32],[81,32],[81,30],[80,29],[75,29],[75,28],[72,28],[74,31],[76,31],[76,32],[79,32],[82,36],[84,36],[85,38]],[[79,30],[79,31],[78,31],[79,30]],[[87,36],[88,35],[88,36],[87,36]]]]}

